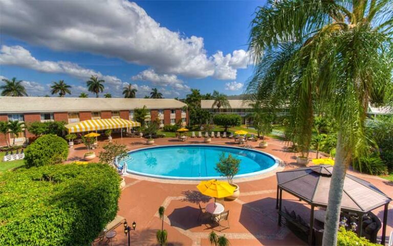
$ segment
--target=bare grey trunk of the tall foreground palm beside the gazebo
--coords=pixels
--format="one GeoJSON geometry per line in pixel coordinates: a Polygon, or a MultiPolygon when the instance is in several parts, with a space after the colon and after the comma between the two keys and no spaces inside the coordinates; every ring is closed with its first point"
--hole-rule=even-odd
{"type": "Polygon", "coordinates": [[[323,246],[337,244],[338,222],[340,220],[342,189],[346,173],[349,152],[344,146],[342,133],[337,135],[336,159],[333,168],[332,180],[329,188],[328,209],[326,210],[325,227],[323,232],[323,246]]]}

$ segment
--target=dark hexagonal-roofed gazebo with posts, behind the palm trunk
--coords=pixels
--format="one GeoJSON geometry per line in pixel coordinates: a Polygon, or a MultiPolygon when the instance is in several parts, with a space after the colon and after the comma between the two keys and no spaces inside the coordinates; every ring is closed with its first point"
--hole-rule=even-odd
{"type": "MultiPolygon", "coordinates": [[[[314,209],[326,208],[333,166],[317,165],[277,172],[278,224],[281,225],[282,191],[307,202],[311,206],[309,244],[313,241],[314,209]]],[[[388,205],[391,199],[372,183],[353,175],[346,174],[342,193],[341,211],[356,213],[360,218],[357,227],[358,235],[362,235],[362,216],[379,207],[385,206],[382,227],[382,242],[386,237],[386,221],[388,205]]]]}

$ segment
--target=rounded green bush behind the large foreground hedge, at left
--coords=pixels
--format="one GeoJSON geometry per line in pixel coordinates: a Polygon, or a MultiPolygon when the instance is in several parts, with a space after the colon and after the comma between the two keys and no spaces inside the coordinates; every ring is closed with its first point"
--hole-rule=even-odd
{"type": "Polygon", "coordinates": [[[67,157],[67,141],[52,134],[37,138],[25,151],[26,167],[53,165],[66,160],[67,157]]]}

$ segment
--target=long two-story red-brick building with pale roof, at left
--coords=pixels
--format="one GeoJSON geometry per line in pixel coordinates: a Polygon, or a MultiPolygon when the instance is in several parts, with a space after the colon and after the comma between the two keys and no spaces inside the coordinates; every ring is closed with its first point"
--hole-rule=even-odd
{"type": "MultiPolygon", "coordinates": [[[[65,121],[68,124],[86,119],[123,118],[134,119],[134,111],[146,108],[150,114],[145,121],[160,120],[160,125],[174,125],[182,121],[187,125],[186,104],[176,99],[153,98],[79,98],[79,97],[0,97],[0,121],[19,120],[27,124],[34,121],[65,121]]],[[[33,134],[24,130],[18,136],[8,134],[9,142],[20,144],[33,134]]],[[[6,145],[4,135],[0,146],[6,145]]]]}

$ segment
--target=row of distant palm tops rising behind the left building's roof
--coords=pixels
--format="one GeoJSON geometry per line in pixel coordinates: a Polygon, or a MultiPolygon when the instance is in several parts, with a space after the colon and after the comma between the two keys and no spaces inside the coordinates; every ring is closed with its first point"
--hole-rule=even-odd
{"type": "MultiPolygon", "coordinates": [[[[16,77],[12,79],[3,78],[2,79],[5,85],[0,86],[0,90],[2,90],[2,96],[28,96],[26,88],[23,86],[22,80],[17,80],[16,77]]],[[[99,97],[100,93],[104,91],[104,79],[99,79],[98,76],[92,75],[88,81],[86,81],[86,87],[89,92],[96,94],[96,97],[99,97]]],[[[59,97],[64,97],[66,94],[71,95],[72,86],[68,85],[64,82],[64,80],[59,80],[58,82],[53,81],[51,85],[50,93],[52,95],[58,94],[59,97]]],[[[135,98],[137,89],[132,85],[128,85],[123,87],[123,95],[124,98],[135,98]]],[[[46,95],[49,96],[49,95],[46,95]]],[[[81,92],[79,97],[89,97],[88,94],[81,92]]],[[[111,93],[104,94],[105,98],[111,98],[111,93]]],[[[157,88],[151,89],[150,96],[145,96],[145,98],[163,98],[163,94],[158,91],[157,88]]]]}

